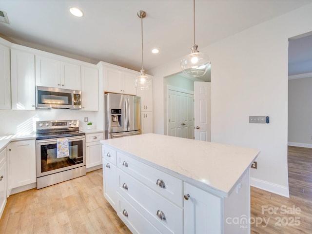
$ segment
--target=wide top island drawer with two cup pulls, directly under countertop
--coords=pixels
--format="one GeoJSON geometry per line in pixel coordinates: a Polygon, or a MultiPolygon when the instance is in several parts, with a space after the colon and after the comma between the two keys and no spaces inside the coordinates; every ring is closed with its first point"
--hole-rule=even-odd
{"type": "Polygon", "coordinates": [[[183,206],[182,180],[120,152],[117,152],[117,167],[179,207],[183,206]]]}

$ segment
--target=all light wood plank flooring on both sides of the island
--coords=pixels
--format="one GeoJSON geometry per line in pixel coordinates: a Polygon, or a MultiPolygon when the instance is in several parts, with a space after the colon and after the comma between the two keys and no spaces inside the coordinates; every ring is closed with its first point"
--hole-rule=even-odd
{"type": "MultiPolygon", "coordinates": [[[[252,234],[312,233],[312,149],[289,147],[288,160],[290,198],[251,188],[252,234]],[[268,211],[262,211],[264,206],[269,211],[274,207],[279,210],[276,214],[270,215],[268,211]],[[294,206],[301,211],[299,214],[283,215],[281,206],[285,206],[285,209],[292,209],[294,206]],[[266,226],[265,222],[268,220],[266,226]],[[300,225],[292,226],[298,221],[300,225]]],[[[0,234],[2,233],[130,234],[131,232],[103,196],[100,169],[47,188],[11,195],[0,220],[0,234]]]]}

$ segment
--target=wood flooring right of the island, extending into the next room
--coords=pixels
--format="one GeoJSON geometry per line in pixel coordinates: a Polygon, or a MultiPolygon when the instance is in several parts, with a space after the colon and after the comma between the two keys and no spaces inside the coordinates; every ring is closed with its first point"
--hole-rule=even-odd
{"type": "Polygon", "coordinates": [[[252,234],[312,234],[312,149],[288,147],[288,174],[290,198],[251,188],[252,234]]]}

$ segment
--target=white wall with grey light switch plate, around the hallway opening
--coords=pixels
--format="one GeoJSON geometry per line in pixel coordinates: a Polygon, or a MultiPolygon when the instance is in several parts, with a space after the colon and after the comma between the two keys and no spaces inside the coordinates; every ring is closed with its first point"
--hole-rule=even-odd
{"type": "MultiPolygon", "coordinates": [[[[285,196],[288,39],[312,31],[311,12],[312,4],[200,48],[212,61],[212,141],[260,149],[252,185],[285,196]],[[270,123],[248,123],[253,115],[269,116],[270,123]]],[[[179,59],[149,71],[154,76],[155,133],[163,134],[163,77],[179,71],[179,59]]]]}

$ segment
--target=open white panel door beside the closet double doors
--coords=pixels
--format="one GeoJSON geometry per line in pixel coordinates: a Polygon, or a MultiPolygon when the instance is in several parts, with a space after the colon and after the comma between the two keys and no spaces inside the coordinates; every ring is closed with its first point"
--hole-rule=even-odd
{"type": "Polygon", "coordinates": [[[194,82],[195,140],[210,141],[210,82],[194,82]]]}

